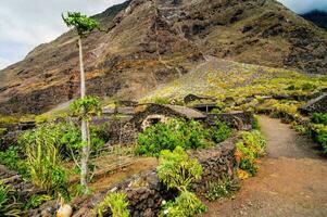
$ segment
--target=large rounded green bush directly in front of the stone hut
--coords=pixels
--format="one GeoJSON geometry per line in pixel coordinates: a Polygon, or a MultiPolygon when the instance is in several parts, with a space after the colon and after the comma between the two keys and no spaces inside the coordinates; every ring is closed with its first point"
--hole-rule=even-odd
{"type": "Polygon", "coordinates": [[[159,156],[162,150],[173,151],[176,146],[188,149],[204,148],[206,130],[194,120],[171,119],[148,127],[139,135],[136,153],[159,156]]]}

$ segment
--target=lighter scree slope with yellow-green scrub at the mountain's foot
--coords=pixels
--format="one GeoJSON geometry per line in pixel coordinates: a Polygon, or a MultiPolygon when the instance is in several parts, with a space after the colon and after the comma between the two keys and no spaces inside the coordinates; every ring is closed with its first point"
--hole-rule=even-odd
{"type": "Polygon", "coordinates": [[[205,56],[188,74],[146,94],[141,101],[174,99],[183,101],[189,93],[244,100],[254,95],[314,95],[326,91],[326,76],[305,75],[297,71],[238,63],[205,56]],[[291,88],[290,88],[291,87],[291,88]],[[302,88],[305,87],[305,88],[302,88]]]}

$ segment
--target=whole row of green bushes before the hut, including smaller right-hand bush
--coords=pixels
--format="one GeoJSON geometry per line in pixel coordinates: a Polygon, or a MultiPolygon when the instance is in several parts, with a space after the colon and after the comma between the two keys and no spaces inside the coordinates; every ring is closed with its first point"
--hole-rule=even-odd
{"type": "Polygon", "coordinates": [[[171,119],[148,127],[139,135],[136,153],[159,156],[162,150],[173,151],[176,146],[185,150],[202,149],[226,140],[231,129],[224,123],[205,129],[196,120],[171,119]]]}

